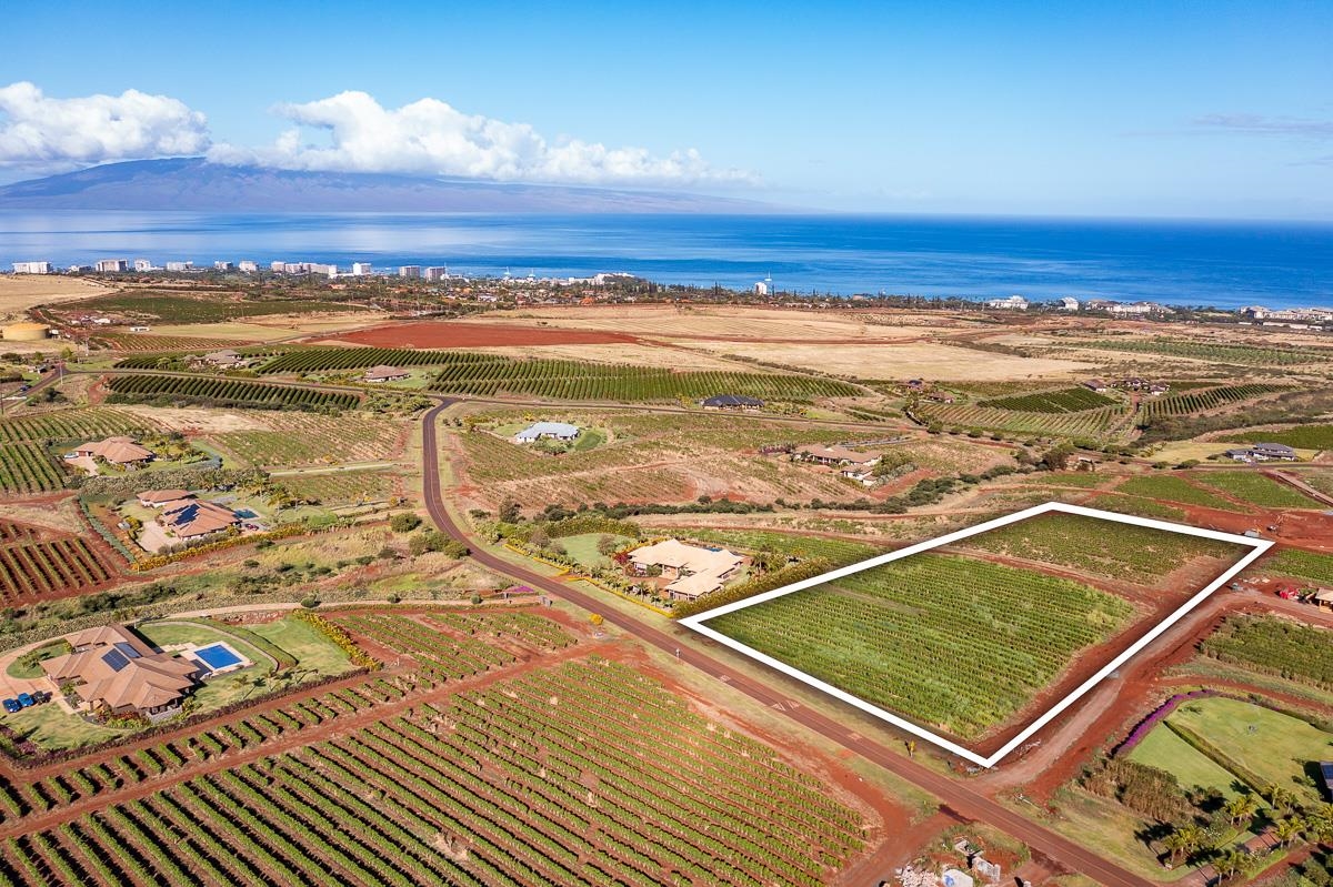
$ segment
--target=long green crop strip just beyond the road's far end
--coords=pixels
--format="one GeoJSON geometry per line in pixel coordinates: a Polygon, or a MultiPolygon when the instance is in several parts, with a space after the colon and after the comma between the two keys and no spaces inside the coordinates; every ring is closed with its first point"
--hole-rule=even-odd
{"type": "Polygon", "coordinates": [[[532,394],[569,401],[673,401],[713,394],[808,402],[817,397],[854,397],[848,382],[810,376],[686,372],[652,366],[585,364],[557,360],[507,360],[488,356],[445,368],[431,389],[447,394],[532,394]]]}

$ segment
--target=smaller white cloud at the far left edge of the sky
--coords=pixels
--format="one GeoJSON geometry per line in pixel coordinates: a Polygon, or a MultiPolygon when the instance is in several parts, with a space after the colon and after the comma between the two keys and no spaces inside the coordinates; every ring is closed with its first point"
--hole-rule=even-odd
{"type": "Polygon", "coordinates": [[[25,81],[0,87],[0,164],[55,169],[208,147],[204,115],[169,96],[52,99],[25,81]]]}

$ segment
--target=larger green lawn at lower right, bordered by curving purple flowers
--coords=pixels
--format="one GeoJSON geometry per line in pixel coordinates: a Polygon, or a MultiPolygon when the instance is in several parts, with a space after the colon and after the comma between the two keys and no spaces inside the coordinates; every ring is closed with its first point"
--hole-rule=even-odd
{"type": "Polygon", "coordinates": [[[1310,783],[1310,768],[1333,758],[1333,734],[1249,702],[1197,699],[1170,721],[1193,730],[1262,779],[1286,786],[1309,800],[1324,800],[1310,783]]]}

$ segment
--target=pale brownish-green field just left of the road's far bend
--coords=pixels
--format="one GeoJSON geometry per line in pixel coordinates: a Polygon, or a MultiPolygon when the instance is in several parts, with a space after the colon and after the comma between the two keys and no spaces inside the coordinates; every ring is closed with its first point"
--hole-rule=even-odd
{"type": "Polygon", "coordinates": [[[211,434],[248,465],[301,467],[395,459],[403,454],[407,424],[385,417],[261,414],[268,428],[211,434]]]}

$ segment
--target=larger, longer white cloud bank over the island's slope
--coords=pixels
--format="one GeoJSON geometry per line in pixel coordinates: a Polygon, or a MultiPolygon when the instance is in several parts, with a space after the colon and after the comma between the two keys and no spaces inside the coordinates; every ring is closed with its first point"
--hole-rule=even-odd
{"type": "Polygon", "coordinates": [[[464,115],[437,99],[384,108],[364,92],[343,92],[276,111],[297,128],[267,148],[217,145],[208,153],[209,160],[497,181],[673,185],[754,180],[741,170],[714,169],[693,149],[660,157],[644,148],[607,148],[575,139],[549,143],[528,124],[464,115]],[[325,131],[328,144],[305,143],[301,127],[325,131]]]}

